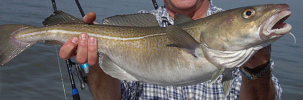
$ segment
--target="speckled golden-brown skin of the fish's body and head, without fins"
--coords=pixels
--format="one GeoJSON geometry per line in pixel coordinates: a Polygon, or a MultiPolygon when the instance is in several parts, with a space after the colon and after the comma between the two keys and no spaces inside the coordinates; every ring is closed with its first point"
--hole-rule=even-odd
{"type": "MultiPolygon", "coordinates": [[[[220,68],[239,67],[259,49],[283,36],[284,33],[274,38],[263,35],[266,38],[261,39],[264,32],[258,29],[264,26],[271,16],[277,14],[275,11],[277,8],[281,11],[287,8],[289,10],[285,4],[243,7],[177,25],[201,43],[202,51],[196,51],[203,53],[199,57],[194,57],[177,47],[168,46],[173,42],[167,38],[166,28],[162,27],[67,23],[40,28],[25,27],[14,32],[12,40],[32,44],[45,40],[65,43],[71,37],[77,37],[85,32],[89,37],[97,39],[99,52],[108,55],[122,70],[134,77],[129,80],[183,86],[207,81],[220,68]],[[254,9],[255,17],[244,19],[242,12],[246,9],[254,9]],[[245,52],[239,53],[242,51],[245,52]],[[233,58],[233,55],[241,54],[245,57],[239,62],[233,58]],[[231,57],[221,59],[220,56],[231,57]],[[221,63],[218,59],[235,63],[221,63]]],[[[116,77],[114,74],[110,75],[116,77]]]]}

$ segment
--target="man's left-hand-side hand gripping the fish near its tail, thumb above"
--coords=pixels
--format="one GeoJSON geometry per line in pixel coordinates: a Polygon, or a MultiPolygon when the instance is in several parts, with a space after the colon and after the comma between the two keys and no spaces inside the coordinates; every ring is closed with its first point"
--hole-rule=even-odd
{"type": "MultiPolygon", "coordinates": [[[[96,19],[96,15],[93,12],[85,15],[82,20],[86,24],[93,24],[96,19]]],[[[86,33],[81,33],[79,37],[70,38],[61,48],[59,56],[62,59],[69,59],[76,56],[78,63],[89,65],[95,65],[98,61],[97,56],[97,40],[94,37],[88,38],[86,33]],[[77,48],[77,53],[75,50],[77,48]]]]}

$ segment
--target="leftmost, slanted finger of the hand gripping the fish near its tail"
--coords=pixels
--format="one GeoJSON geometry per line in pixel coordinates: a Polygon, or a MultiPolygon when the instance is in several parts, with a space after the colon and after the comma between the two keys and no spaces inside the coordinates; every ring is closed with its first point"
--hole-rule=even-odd
{"type": "Polygon", "coordinates": [[[78,38],[72,37],[70,38],[61,48],[59,52],[59,56],[62,59],[68,59],[76,55],[74,52],[78,45],[78,38]]]}

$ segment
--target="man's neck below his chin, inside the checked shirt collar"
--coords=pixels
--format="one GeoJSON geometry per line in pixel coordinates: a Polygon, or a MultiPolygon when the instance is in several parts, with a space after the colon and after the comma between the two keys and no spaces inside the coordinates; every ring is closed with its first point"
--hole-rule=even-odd
{"type": "Polygon", "coordinates": [[[169,8],[169,7],[166,7],[166,9],[173,20],[176,14],[185,14],[190,18],[192,18],[193,20],[197,20],[205,17],[209,9],[209,5],[210,5],[209,1],[204,0],[197,2],[195,6],[187,10],[180,10],[180,9],[169,8]]]}

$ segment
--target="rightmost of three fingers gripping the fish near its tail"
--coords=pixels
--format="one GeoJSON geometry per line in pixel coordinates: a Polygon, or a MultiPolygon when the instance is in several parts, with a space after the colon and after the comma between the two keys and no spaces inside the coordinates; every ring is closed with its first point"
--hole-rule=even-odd
{"type": "Polygon", "coordinates": [[[97,40],[94,37],[90,37],[88,39],[87,63],[92,66],[95,65],[97,61],[97,40]]]}

